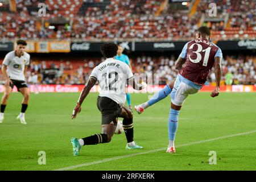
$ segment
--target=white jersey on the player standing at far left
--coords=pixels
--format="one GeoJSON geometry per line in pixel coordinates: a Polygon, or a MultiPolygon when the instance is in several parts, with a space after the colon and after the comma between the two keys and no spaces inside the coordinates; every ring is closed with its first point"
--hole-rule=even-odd
{"type": "Polygon", "coordinates": [[[7,66],[7,75],[12,80],[25,81],[24,69],[25,65],[30,64],[30,55],[24,52],[22,56],[18,57],[15,51],[11,51],[5,56],[3,64],[7,66]]]}

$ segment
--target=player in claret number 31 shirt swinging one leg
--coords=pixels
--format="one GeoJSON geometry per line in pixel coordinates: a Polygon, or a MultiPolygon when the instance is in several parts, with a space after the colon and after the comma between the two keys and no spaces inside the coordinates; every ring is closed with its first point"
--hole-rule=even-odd
{"type": "MultiPolygon", "coordinates": [[[[160,94],[155,94],[156,100],[161,100],[159,96],[161,94],[166,96],[167,93],[165,92],[169,93],[171,90],[171,109],[168,119],[169,146],[166,151],[167,153],[175,153],[174,140],[181,106],[189,94],[199,92],[205,81],[207,81],[210,69],[213,66],[216,77],[216,88],[210,96],[216,97],[220,92],[222,52],[219,47],[209,41],[209,38],[209,28],[200,27],[196,32],[196,39],[185,44],[175,63],[175,68],[179,70],[179,75],[174,82],[173,88],[172,84],[170,84],[163,90],[160,90],[160,94]]],[[[147,103],[145,102],[144,104],[135,106],[135,110],[139,114],[142,113],[145,108],[143,105],[147,103]]]]}

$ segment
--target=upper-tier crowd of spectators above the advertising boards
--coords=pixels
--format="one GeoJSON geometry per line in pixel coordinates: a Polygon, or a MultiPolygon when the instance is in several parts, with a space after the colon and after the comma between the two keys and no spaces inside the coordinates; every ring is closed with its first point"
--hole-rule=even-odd
{"type": "MultiPolygon", "coordinates": [[[[102,6],[83,7],[83,3],[103,3],[104,0],[93,1],[44,1],[47,7],[44,22],[52,18],[61,18],[69,22],[69,28],[58,26],[49,28],[38,17],[35,7],[38,1],[17,0],[17,13],[0,12],[0,39],[175,39],[189,38],[198,28],[202,14],[209,13],[211,0],[202,0],[195,14],[189,18],[189,10],[163,10],[156,15],[162,1],[154,0],[112,0],[104,8],[102,6]],[[34,9],[32,8],[34,7],[34,9]],[[72,23],[71,23],[72,22],[72,23]]],[[[213,1],[217,5],[218,18],[229,15],[230,28],[251,30],[250,35],[256,35],[255,1],[213,1]]],[[[169,5],[171,6],[171,5],[169,5]]],[[[57,20],[57,19],[56,19],[57,20]]],[[[213,31],[224,31],[225,23],[206,22],[213,31]]],[[[227,30],[227,29],[226,29],[227,30]]],[[[225,32],[220,32],[225,34],[225,32]]],[[[224,36],[225,37],[225,36],[224,36]]]]}

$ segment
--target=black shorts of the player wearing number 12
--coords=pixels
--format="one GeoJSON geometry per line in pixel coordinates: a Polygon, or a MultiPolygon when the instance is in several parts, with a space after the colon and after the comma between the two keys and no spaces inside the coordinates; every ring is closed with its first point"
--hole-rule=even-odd
{"type": "Polygon", "coordinates": [[[101,111],[101,125],[109,125],[112,121],[117,125],[117,117],[121,114],[122,107],[108,97],[98,96],[97,107],[101,111]]]}

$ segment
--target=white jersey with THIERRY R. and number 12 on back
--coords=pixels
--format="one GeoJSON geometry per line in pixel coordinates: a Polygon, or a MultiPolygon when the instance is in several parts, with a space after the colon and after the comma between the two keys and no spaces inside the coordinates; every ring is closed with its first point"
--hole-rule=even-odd
{"type": "Polygon", "coordinates": [[[134,77],[126,63],[108,58],[93,69],[90,77],[98,80],[101,97],[108,97],[121,107],[125,105],[127,80],[134,77]]]}

